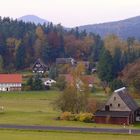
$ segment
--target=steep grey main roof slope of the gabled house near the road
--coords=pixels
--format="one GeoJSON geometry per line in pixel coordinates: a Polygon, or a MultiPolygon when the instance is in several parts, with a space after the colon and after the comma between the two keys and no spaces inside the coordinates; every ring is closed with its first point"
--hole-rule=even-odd
{"type": "Polygon", "coordinates": [[[118,94],[120,98],[124,101],[124,103],[130,108],[130,110],[135,111],[139,108],[138,104],[134,101],[134,99],[129,95],[127,89],[120,90],[118,92],[114,92],[118,94]]]}

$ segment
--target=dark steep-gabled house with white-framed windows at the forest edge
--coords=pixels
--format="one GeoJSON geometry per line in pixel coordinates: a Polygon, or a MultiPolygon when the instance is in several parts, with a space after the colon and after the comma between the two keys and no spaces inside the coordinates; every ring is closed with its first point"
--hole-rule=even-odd
{"type": "Polygon", "coordinates": [[[48,70],[48,67],[41,61],[40,58],[36,60],[32,67],[34,73],[45,73],[48,70]]]}

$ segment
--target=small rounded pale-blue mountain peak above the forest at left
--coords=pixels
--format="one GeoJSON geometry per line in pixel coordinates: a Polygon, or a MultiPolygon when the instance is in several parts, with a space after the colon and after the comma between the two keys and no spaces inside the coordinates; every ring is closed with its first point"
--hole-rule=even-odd
{"type": "Polygon", "coordinates": [[[25,16],[22,16],[20,18],[18,18],[18,20],[22,20],[24,22],[32,22],[32,23],[35,23],[35,24],[43,24],[43,23],[48,23],[49,21],[45,20],[45,19],[42,19],[38,16],[35,16],[35,15],[25,15],[25,16]]]}

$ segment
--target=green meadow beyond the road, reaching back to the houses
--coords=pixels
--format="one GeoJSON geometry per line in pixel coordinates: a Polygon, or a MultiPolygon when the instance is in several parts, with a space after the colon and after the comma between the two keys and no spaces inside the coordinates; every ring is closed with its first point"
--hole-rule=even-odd
{"type": "MultiPolygon", "coordinates": [[[[76,127],[119,127],[120,125],[104,125],[76,121],[59,121],[56,118],[60,111],[54,109],[53,102],[61,94],[58,91],[40,92],[3,92],[0,93],[0,124],[21,125],[50,125],[50,126],[76,126],[76,127]]],[[[92,98],[105,100],[103,94],[92,94],[92,98]]],[[[131,126],[133,127],[133,126],[131,126]]],[[[139,124],[136,125],[140,127],[139,124]]]]}

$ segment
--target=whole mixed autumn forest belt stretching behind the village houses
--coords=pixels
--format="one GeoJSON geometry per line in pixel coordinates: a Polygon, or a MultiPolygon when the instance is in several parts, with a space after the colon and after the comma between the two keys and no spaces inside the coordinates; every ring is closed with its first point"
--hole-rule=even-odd
{"type": "Polygon", "coordinates": [[[122,40],[115,35],[103,40],[78,28],[67,31],[52,23],[36,25],[0,18],[0,72],[30,68],[37,58],[52,66],[59,57],[86,60],[91,66],[102,58],[101,70],[108,73],[104,64],[112,64],[109,70],[116,76],[128,63],[140,58],[140,42],[134,38],[122,40]]]}

